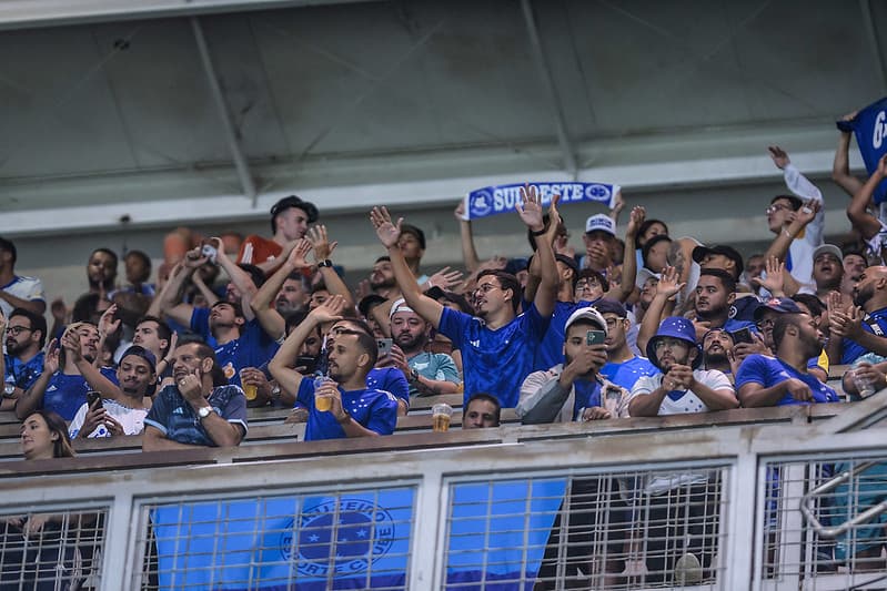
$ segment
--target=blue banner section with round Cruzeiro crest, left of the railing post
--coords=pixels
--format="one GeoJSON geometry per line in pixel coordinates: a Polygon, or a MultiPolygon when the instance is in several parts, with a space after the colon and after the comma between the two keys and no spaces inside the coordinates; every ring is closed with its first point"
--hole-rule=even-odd
{"type": "Polygon", "coordinates": [[[161,589],[406,587],[412,488],[158,507],[161,589]]]}

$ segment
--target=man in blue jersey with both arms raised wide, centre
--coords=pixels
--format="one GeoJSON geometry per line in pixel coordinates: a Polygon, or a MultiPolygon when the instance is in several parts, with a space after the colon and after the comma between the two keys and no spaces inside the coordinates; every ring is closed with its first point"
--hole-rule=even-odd
{"type": "Polygon", "coordinates": [[[406,304],[462,351],[465,400],[473,394],[486,391],[497,396],[503,408],[517,404],[521,380],[533,369],[536,348],[548,328],[557,292],[557,267],[552,249],[557,231],[557,200],[552,200],[552,222],[546,230],[536,188],[527,186],[521,195],[517,213],[533,231],[542,274],[533,303],[521,315],[517,315],[520,284],[514,275],[502,271],[487,269],[477,276],[476,317],[444,307],[424,295],[397,246],[402,220],[392,223],[384,207],[375,207],[370,214],[379,240],[389,251],[406,304]]]}

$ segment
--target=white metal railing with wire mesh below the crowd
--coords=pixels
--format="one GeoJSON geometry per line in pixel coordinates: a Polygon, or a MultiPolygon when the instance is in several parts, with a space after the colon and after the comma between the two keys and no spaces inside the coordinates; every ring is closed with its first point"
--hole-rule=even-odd
{"type": "MultiPolygon", "coordinates": [[[[456,447],[460,435],[448,434],[450,447],[432,449],[411,448],[416,435],[387,438],[406,447],[381,451],[293,445],[319,451],[254,459],[254,449],[218,450],[215,463],[145,468],[127,468],[144,456],[119,455],[108,458],[114,468],[0,470],[0,513],[53,512],[69,523],[100,513],[90,540],[98,560],[82,577],[114,591],[326,589],[337,577],[411,590],[478,589],[478,577],[502,589],[877,585],[883,573],[854,553],[864,534],[884,541],[863,531],[873,522],[848,528],[838,556],[800,509],[804,501],[830,526],[840,516],[823,497],[843,495],[840,513],[853,517],[887,495],[880,477],[859,469],[846,489],[816,490],[835,465],[853,472],[887,462],[887,430],[867,420],[885,396],[812,425],[510,427],[486,441],[465,432],[456,447]],[[867,428],[853,430],[860,421],[867,428]]],[[[74,547],[88,537],[79,534],[74,547]]]]}

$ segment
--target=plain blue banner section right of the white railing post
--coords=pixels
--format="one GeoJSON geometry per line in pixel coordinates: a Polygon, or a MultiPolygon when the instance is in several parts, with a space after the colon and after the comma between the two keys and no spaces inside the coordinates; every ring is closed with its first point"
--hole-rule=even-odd
{"type": "Polygon", "coordinates": [[[566,480],[453,487],[446,589],[531,591],[566,480]]]}

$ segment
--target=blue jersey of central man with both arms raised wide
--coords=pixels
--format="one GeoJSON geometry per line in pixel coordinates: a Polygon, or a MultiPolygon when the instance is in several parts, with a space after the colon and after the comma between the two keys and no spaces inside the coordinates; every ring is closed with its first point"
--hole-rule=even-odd
{"type": "Polygon", "coordinates": [[[465,404],[473,394],[488,393],[503,408],[517,406],[521,384],[534,370],[548,320],[531,304],[512,322],[492,330],[480,318],[443,308],[439,330],[462,353],[465,404]]]}

